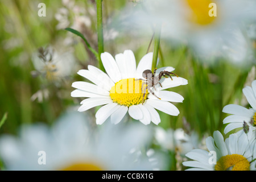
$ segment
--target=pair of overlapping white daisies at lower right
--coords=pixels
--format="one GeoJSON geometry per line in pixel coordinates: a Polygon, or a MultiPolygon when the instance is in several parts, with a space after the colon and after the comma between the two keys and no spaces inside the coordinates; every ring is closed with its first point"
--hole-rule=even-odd
{"type": "Polygon", "coordinates": [[[252,108],[230,104],[224,113],[232,114],[223,121],[224,133],[239,130],[225,139],[220,131],[206,139],[208,151],[194,149],[186,154],[193,161],[183,162],[188,170],[256,170],[256,80],[243,88],[243,94],[252,108]],[[213,154],[213,156],[211,155],[213,154]]]}

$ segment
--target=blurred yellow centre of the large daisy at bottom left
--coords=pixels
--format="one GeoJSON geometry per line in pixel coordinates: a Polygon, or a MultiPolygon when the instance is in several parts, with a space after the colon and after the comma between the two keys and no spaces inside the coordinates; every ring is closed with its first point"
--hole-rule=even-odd
{"type": "Polygon", "coordinates": [[[75,163],[64,167],[61,171],[103,171],[100,166],[91,163],[75,163]]]}

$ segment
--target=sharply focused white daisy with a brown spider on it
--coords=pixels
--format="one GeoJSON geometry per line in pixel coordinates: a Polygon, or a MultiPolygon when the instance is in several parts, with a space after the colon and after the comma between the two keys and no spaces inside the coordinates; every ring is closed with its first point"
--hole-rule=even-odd
{"type": "MultiPolygon", "coordinates": [[[[92,107],[102,106],[96,113],[96,123],[101,125],[110,118],[114,124],[119,123],[125,114],[141,121],[144,125],[152,121],[156,125],[160,123],[160,117],[155,109],[170,115],[178,115],[179,110],[171,102],[182,102],[184,98],[175,92],[164,89],[179,85],[187,85],[188,81],[181,77],[172,76],[162,78],[159,82],[162,85],[155,85],[155,96],[146,89],[142,77],[143,71],[152,67],[152,52],[144,55],[136,67],[134,53],[126,50],[115,55],[110,53],[101,54],[101,60],[106,73],[100,69],[88,65],[88,70],[82,69],[79,75],[92,81],[94,84],[84,81],[73,82],[76,88],[71,93],[72,97],[88,97],[81,101],[79,111],[85,111],[92,107]],[[143,90],[146,89],[146,92],[143,90]],[[144,98],[144,103],[143,102],[144,98]]],[[[156,76],[160,71],[174,71],[172,67],[163,67],[156,70],[156,76]]]]}

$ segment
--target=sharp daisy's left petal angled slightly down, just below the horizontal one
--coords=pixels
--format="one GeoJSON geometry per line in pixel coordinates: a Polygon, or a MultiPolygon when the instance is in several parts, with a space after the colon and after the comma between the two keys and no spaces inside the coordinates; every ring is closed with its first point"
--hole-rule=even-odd
{"type": "Polygon", "coordinates": [[[92,107],[100,106],[100,105],[105,105],[112,103],[111,98],[86,98],[81,102],[81,106],[79,107],[78,111],[86,111],[88,109],[91,109],[92,107]]]}

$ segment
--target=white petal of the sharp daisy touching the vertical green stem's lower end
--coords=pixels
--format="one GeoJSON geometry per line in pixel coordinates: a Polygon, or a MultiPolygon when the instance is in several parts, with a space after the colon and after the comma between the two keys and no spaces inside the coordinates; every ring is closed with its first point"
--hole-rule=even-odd
{"type": "Polygon", "coordinates": [[[106,72],[114,82],[118,82],[122,79],[117,63],[115,62],[114,57],[110,55],[110,53],[101,53],[101,60],[106,72]]]}

